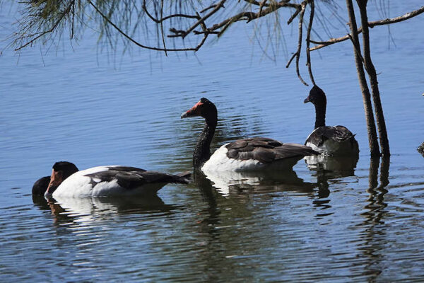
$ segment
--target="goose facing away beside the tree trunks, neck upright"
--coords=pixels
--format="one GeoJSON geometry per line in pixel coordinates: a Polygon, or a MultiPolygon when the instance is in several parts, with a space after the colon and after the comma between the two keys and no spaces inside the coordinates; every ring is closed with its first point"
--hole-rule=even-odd
{"type": "Polygon", "coordinates": [[[326,126],[326,96],[318,86],[313,86],[309,96],[303,101],[315,106],[315,128],[307,137],[306,146],[326,155],[352,155],[359,153],[358,141],[344,126],[326,126]]]}

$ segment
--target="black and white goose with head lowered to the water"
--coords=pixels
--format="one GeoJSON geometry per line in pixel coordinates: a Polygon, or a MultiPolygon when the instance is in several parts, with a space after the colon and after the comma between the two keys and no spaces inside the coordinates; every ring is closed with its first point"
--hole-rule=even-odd
{"type": "Polygon", "coordinates": [[[171,175],[127,166],[78,171],[73,163],[54,163],[45,197],[154,195],[167,183],[189,183],[190,173],[171,175]]]}

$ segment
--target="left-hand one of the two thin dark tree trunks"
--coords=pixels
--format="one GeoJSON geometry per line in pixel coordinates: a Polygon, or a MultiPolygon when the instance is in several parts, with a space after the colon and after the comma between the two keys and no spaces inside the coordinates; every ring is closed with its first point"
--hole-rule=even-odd
{"type": "Polygon", "coordinates": [[[346,0],[346,6],[349,14],[349,28],[351,28],[351,40],[353,42],[353,54],[355,55],[356,71],[358,73],[358,81],[360,90],[363,95],[363,103],[365,110],[365,120],[367,121],[368,142],[370,144],[371,156],[379,156],[379,146],[377,141],[377,131],[375,129],[375,120],[372,113],[370,89],[365,79],[362,57],[360,55],[360,45],[358,37],[358,26],[355,20],[355,11],[353,10],[352,0],[346,0]]]}

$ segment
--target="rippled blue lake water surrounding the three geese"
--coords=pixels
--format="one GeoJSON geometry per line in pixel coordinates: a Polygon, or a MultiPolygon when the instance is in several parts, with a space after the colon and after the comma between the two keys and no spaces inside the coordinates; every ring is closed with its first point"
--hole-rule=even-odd
{"type": "MultiPolygon", "coordinates": [[[[16,18],[8,5],[2,39],[16,18]]],[[[390,16],[418,6],[391,2],[390,16]]],[[[392,25],[396,47],[387,28],[371,30],[389,162],[370,160],[352,47],[343,42],[312,52],[312,64],[327,124],[357,134],[354,170],[322,175],[300,161],[294,175],[248,176],[224,189],[196,175],[148,200],[47,204],[30,190],[60,160],[190,170],[202,121],[179,115],[202,96],[218,107],[213,148],[252,136],[302,143],[314,110],[284,52],[264,59],[249,42],[252,30],[235,29],[197,58],[99,53],[88,33],[75,52],[66,40],[47,54],[4,50],[0,281],[423,281],[424,159],[416,147],[424,140],[424,40],[414,32],[423,25],[422,16],[392,25]]]]}

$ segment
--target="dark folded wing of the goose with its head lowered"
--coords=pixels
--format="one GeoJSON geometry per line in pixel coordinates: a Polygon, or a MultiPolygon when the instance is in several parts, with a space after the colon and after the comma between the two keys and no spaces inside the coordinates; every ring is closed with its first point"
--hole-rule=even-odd
{"type": "Polygon", "coordinates": [[[125,166],[110,166],[108,168],[108,171],[100,171],[86,175],[90,177],[90,183],[93,187],[98,183],[111,182],[112,180],[117,180],[118,185],[128,190],[153,183],[189,183],[187,174],[179,176],[125,166]],[[100,179],[100,182],[96,179],[100,179]]]}

